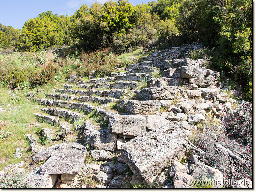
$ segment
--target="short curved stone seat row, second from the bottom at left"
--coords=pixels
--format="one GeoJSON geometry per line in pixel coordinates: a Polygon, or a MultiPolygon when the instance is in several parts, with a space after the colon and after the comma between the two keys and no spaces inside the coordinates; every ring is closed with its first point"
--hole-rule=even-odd
{"type": "Polygon", "coordinates": [[[79,121],[79,119],[82,119],[85,117],[85,115],[81,114],[81,113],[77,113],[77,112],[73,112],[73,111],[69,111],[66,109],[58,109],[55,107],[51,107],[51,108],[41,108],[41,111],[43,111],[44,113],[50,114],[52,116],[60,116],[63,117],[64,119],[68,120],[68,121],[79,121]]]}

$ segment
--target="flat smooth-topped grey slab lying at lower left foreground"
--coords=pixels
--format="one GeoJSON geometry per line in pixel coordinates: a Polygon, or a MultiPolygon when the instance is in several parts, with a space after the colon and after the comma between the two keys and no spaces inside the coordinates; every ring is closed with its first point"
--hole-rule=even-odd
{"type": "Polygon", "coordinates": [[[59,144],[41,169],[47,170],[48,174],[78,173],[84,164],[86,152],[86,147],[76,141],[59,144]]]}

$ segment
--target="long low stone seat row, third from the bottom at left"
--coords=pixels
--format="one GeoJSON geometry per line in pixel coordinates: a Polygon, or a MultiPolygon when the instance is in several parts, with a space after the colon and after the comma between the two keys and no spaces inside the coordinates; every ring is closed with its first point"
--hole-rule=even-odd
{"type": "Polygon", "coordinates": [[[97,107],[88,103],[75,103],[62,100],[51,100],[51,99],[34,99],[39,105],[44,106],[55,106],[61,108],[78,109],[83,110],[86,113],[92,113],[97,107]]]}

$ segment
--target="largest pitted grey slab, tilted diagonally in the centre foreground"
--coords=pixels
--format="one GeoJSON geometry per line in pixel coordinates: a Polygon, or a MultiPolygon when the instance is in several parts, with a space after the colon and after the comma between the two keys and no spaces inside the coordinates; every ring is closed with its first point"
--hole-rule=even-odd
{"type": "Polygon", "coordinates": [[[186,155],[185,137],[179,126],[164,125],[123,144],[121,154],[134,174],[148,179],[186,155]]]}

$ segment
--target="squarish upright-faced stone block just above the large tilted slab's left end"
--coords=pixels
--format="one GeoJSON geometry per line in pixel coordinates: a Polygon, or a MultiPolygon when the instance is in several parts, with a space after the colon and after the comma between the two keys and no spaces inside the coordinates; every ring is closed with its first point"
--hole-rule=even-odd
{"type": "Polygon", "coordinates": [[[108,131],[138,136],[146,132],[146,125],[146,118],[143,116],[114,114],[109,117],[108,131]]]}

